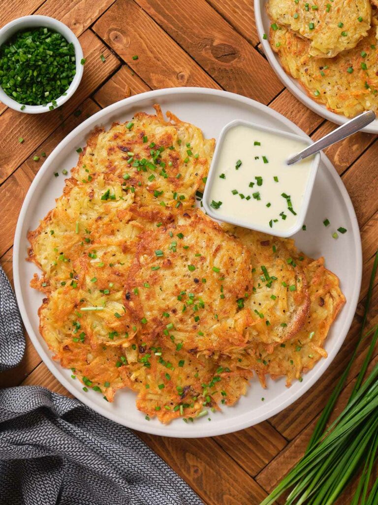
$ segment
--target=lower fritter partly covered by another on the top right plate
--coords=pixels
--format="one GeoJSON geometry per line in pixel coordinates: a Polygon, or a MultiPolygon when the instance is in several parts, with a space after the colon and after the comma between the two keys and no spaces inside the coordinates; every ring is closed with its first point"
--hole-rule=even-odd
{"type": "Polygon", "coordinates": [[[337,114],[354,117],[378,109],[377,27],[374,25],[354,49],[336,58],[312,58],[309,41],[290,30],[271,30],[271,45],[284,70],[298,79],[307,94],[337,114]]]}

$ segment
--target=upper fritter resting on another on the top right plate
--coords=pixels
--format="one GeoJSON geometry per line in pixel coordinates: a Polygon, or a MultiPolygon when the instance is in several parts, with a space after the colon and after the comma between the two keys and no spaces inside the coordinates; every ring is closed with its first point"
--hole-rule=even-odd
{"type": "Polygon", "coordinates": [[[269,0],[268,16],[272,23],[288,28],[307,39],[308,54],[315,58],[333,58],[352,49],[366,37],[370,28],[369,0],[269,0]]]}

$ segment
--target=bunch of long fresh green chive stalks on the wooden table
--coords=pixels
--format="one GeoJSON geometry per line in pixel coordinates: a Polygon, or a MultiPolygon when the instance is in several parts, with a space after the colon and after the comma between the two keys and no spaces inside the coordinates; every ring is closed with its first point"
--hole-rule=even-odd
{"type": "Polygon", "coordinates": [[[351,505],[374,505],[378,502],[378,479],[368,494],[378,452],[378,364],[363,381],[378,340],[378,325],[364,334],[377,267],[378,251],[371,272],[360,336],[348,366],[317,422],[303,458],[261,505],[272,505],[290,488],[292,490],[286,498],[286,505],[332,505],[361,468],[362,473],[351,505]],[[373,336],[347,406],[326,429],[336,400],[356,359],[357,349],[371,334],[373,336]]]}

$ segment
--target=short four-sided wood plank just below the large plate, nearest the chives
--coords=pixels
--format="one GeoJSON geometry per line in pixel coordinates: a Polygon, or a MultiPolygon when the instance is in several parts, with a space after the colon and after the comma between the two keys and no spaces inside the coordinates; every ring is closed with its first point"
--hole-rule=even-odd
{"type": "Polygon", "coordinates": [[[268,422],[214,437],[249,475],[255,476],[285,447],[287,441],[268,422]]]}

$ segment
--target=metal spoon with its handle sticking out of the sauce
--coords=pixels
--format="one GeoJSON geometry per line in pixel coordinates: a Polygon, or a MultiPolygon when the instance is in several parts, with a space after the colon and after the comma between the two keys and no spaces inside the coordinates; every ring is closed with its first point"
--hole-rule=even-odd
{"type": "Polygon", "coordinates": [[[320,138],[313,144],[309,145],[308,147],[300,151],[300,153],[291,156],[286,161],[286,164],[293,165],[294,163],[297,163],[298,161],[307,158],[307,156],[318,153],[318,151],[325,149],[329,145],[334,144],[339,140],[343,140],[344,138],[349,137],[349,135],[353,135],[353,133],[362,130],[362,128],[365,128],[365,126],[370,124],[371,121],[374,121],[374,119],[375,119],[375,113],[373,111],[363,112],[359,116],[339,126],[339,128],[336,128],[336,130],[332,131],[328,135],[325,135],[324,137],[320,138]]]}

